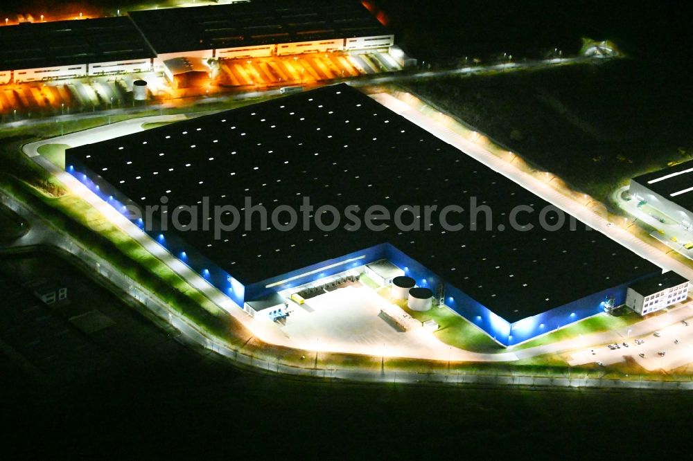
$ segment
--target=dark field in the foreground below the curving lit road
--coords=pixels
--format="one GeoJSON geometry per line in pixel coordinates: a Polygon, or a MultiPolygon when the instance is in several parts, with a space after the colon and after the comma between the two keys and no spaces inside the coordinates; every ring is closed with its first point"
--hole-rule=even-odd
{"type": "Polygon", "coordinates": [[[71,381],[37,383],[1,356],[1,430],[12,459],[44,450],[53,459],[644,455],[660,444],[673,454],[671,425],[690,428],[690,393],[359,385],[238,370],[180,345],[58,258],[0,266],[67,284],[73,302],[53,315],[98,309],[114,320],[88,335],[110,365],[71,381]]]}

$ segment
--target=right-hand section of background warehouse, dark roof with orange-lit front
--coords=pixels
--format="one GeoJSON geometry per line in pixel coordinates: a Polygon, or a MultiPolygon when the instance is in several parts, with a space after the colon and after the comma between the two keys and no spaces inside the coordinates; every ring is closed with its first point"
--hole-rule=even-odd
{"type": "Polygon", "coordinates": [[[183,56],[263,57],[394,45],[394,35],[352,0],[252,1],[135,11],[130,17],[157,53],[159,66],[183,56]]]}

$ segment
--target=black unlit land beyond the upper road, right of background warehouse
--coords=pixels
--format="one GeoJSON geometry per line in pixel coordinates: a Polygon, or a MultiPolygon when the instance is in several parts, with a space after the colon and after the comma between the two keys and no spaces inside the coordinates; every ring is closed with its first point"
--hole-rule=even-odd
{"type": "Polygon", "coordinates": [[[683,4],[656,0],[372,0],[398,42],[415,57],[446,64],[503,53],[541,57],[554,48],[577,53],[581,38],[609,39],[629,55],[686,62],[690,15],[683,4]]]}

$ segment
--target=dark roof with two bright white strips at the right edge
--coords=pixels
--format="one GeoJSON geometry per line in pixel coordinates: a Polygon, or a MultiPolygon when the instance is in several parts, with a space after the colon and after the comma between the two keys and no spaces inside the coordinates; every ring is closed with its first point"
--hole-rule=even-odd
{"type": "Polygon", "coordinates": [[[693,210],[693,160],[642,174],[633,181],[686,210],[693,210]]]}

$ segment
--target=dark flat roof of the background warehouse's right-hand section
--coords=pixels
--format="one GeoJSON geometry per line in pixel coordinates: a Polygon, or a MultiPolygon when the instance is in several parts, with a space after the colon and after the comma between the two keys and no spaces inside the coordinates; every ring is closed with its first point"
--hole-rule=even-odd
{"type": "Polygon", "coordinates": [[[253,0],[128,14],[159,54],[389,33],[357,0],[253,0]]]}

